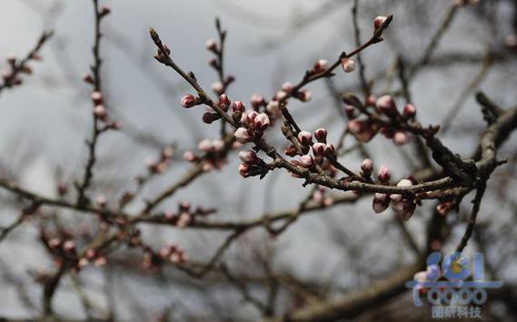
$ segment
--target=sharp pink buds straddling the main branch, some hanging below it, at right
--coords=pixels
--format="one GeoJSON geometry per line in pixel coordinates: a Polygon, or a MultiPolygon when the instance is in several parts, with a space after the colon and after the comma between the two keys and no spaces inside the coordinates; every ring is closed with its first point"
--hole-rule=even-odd
{"type": "MultiPolygon", "coordinates": [[[[373,162],[370,159],[365,159],[361,166],[361,175],[364,177],[370,177],[373,171],[373,162]]],[[[391,171],[388,166],[382,165],[377,172],[377,179],[383,185],[389,185],[392,177],[391,171]]],[[[407,187],[413,186],[416,182],[412,176],[400,180],[396,186],[407,187]]],[[[382,194],[376,193],[373,196],[373,212],[380,214],[386,210],[390,204],[392,205],[393,212],[400,216],[403,220],[409,220],[413,216],[416,204],[413,198],[409,198],[400,194],[382,194]]]]}

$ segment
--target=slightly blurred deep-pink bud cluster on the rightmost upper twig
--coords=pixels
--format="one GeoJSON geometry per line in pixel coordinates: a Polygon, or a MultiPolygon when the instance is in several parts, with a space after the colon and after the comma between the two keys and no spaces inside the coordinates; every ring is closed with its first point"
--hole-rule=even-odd
{"type": "Polygon", "coordinates": [[[369,96],[364,106],[354,96],[343,96],[343,102],[344,112],[349,118],[348,130],[359,142],[368,142],[379,132],[392,139],[396,146],[404,146],[409,142],[410,135],[402,125],[416,116],[416,108],[412,104],[406,104],[400,113],[392,96],[381,96],[376,100],[374,96],[369,96]],[[361,116],[367,108],[373,108],[373,102],[375,112],[386,116],[387,121],[381,117],[361,116]]]}

